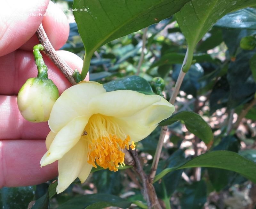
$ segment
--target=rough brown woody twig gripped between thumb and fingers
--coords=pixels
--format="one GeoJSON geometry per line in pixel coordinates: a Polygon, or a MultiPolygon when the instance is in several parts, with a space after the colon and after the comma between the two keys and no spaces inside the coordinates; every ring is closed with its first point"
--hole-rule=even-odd
{"type": "Polygon", "coordinates": [[[50,57],[52,62],[60,69],[60,71],[65,75],[68,81],[72,85],[76,85],[76,82],[72,77],[73,70],[57,54],[51,42],[49,41],[42,24],[37,29],[36,36],[40,43],[43,45],[46,55],[50,57]]]}

